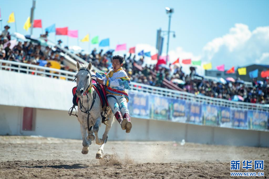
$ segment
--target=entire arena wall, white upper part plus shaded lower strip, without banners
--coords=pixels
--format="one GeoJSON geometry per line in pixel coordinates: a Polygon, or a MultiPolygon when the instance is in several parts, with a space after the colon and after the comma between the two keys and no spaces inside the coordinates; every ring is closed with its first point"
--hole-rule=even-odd
{"type": "MultiPolygon", "coordinates": [[[[0,70],[0,135],[81,139],[76,117],[68,115],[75,82],[0,70]],[[36,108],[33,131],[22,130],[23,107],[36,108]]],[[[269,147],[269,132],[132,118],[126,134],[114,123],[110,140],[170,140],[269,147]]],[[[102,126],[100,133],[104,132],[102,126]]]]}

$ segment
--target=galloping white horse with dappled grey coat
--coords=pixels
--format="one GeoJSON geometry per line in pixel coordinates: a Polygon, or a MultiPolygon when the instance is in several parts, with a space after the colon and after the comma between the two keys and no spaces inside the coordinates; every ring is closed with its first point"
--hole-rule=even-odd
{"type": "Polygon", "coordinates": [[[80,64],[77,62],[77,97],[80,98],[80,102],[77,107],[77,120],[80,123],[80,130],[82,134],[82,154],[88,154],[89,145],[91,145],[91,141],[95,138],[95,143],[101,145],[99,148],[96,157],[97,159],[102,158],[102,154],[104,151],[104,145],[107,142],[108,132],[111,129],[112,123],[114,122],[114,115],[109,108],[107,111],[109,120],[107,121],[107,126],[105,128],[105,132],[102,138],[98,138],[98,130],[101,127],[102,117],[101,112],[107,108],[105,105],[102,108],[100,97],[97,92],[92,87],[92,76],[91,72],[91,63],[89,64],[80,64]],[[92,127],[93,126],[93,127],[92,127]],[[88,133],[88,136],[87,136],[88,133]],[[95,137],[93,135],[95,134],[95,137]]]}

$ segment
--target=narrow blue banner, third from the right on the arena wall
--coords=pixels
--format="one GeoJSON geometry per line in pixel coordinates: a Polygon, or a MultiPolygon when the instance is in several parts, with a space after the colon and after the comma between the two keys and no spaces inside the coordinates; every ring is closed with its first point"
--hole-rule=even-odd
{"type": "Polygon", "coordinates": [[[220,127],[232,127],[232,111],[230,108],[220,107],[220,127]]]}

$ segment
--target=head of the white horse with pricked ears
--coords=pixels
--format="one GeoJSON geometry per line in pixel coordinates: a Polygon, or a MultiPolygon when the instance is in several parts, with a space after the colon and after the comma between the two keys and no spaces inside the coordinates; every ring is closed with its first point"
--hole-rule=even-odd
{"type": "Polygon", "coordinates": [[[86,91],[88,89],[88,87],[90,87],[89,85],[92,84],[92,78],[91,78],[91,63],[89,64],[80,64],[77,61],[77,74],[76,74],[76,78],[77,78],[77,96],[81,97],[83,92],[86,91]]]}

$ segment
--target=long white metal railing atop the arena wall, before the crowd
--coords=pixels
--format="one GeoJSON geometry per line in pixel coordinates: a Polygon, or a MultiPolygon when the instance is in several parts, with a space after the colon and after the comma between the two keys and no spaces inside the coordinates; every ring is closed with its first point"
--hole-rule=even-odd
{"type": "MultiPolygon", "coordinates": [[[[58,70],[54,68],[42,67],[38,65],[32,65],[27,63],[20,63],[15,61],[0,60],[0,71],[8,70],[19,73],[26,73],[31,75],[41,75],[49,78],[58,78],[63,80],[72,81],[75,78],[75,72],[69,72],[65,70],[58,70]]],[[[1,84],[0,84],[1,85],[1,84]]],[[[236,102],[220,98],[213,98],[202,95],[195,95],[192,93],[181,92],[177,90],[171,90],[161,87],[155,87],[145,85],[141,83],[131,82],[130,91],[139,93],[148,93],[158,96],[186,100],[199,104],[212,104],[221,107],[230,107],[243,110],[258,110],[269,112],[269,104],[253,104],[245,102],[236,102]]]]}

